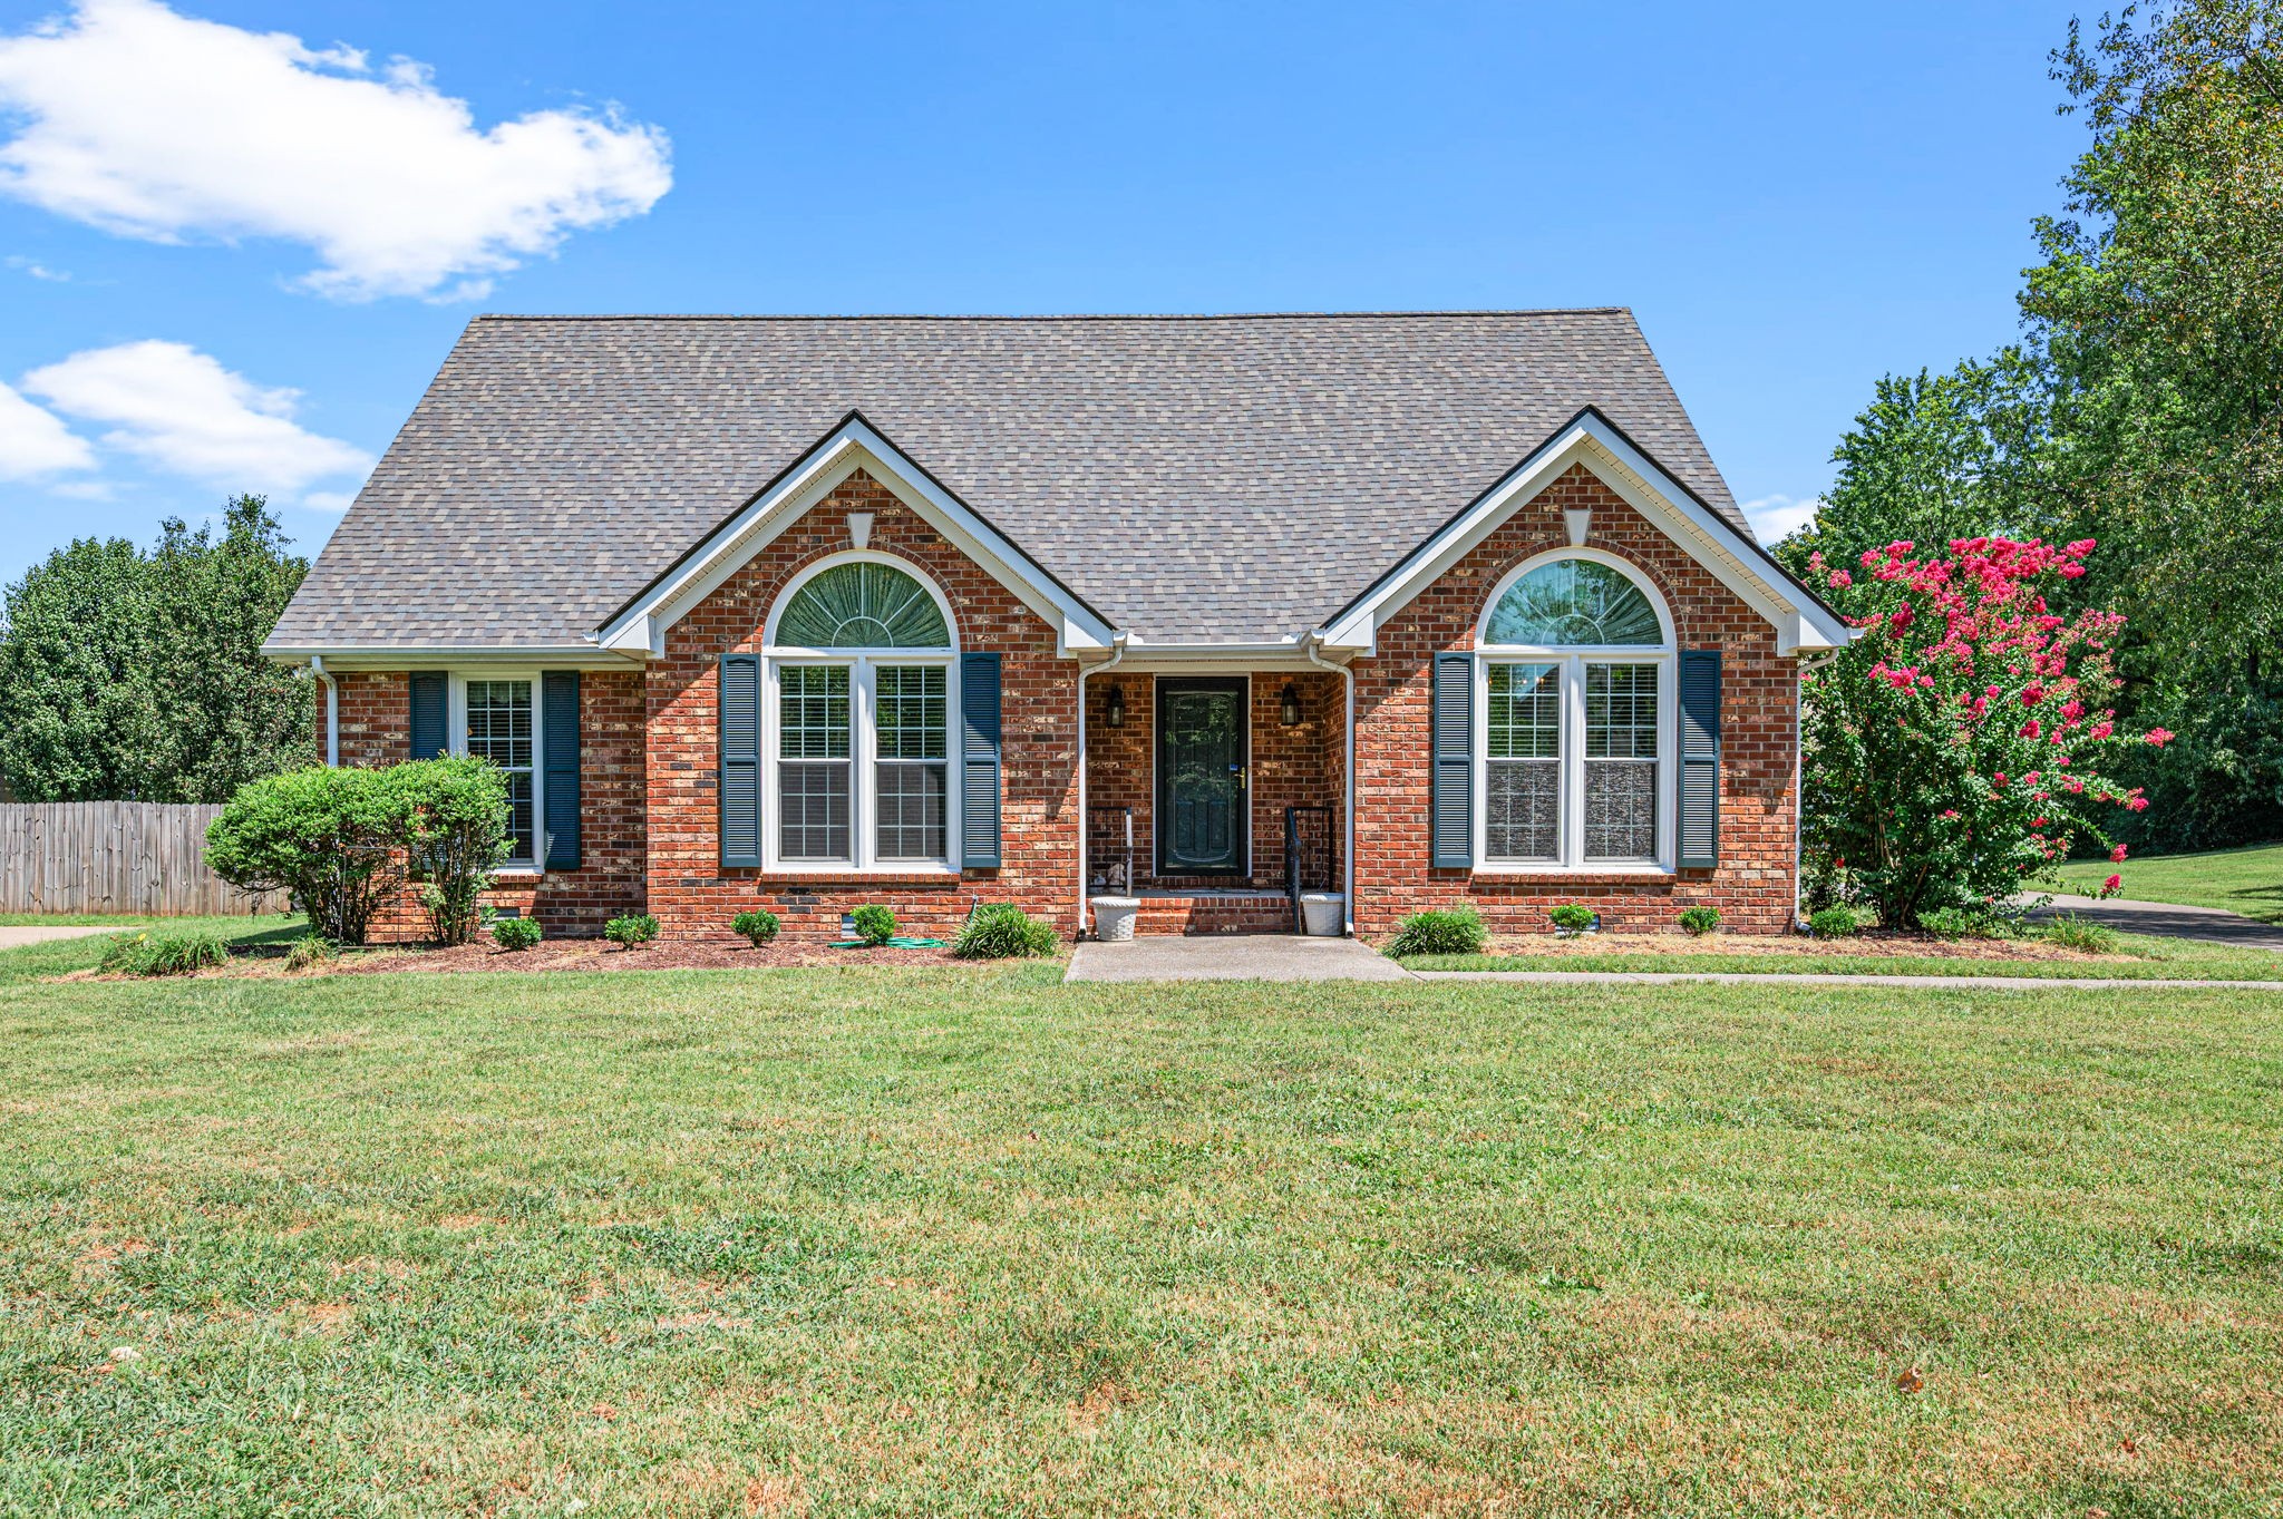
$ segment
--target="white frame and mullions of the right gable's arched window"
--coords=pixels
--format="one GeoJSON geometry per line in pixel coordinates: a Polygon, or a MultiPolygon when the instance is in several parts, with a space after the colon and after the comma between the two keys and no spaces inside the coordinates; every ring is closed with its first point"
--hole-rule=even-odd
{"type": "Polygon", "coordinates": [[[1630,561],[1589,547],[1557,547],[1534,554],[1507,570],[1491,588],[1475,623],[1475,712],[1473,712],[1473,785],[1475,785],[1475,874],[1484,876],[1669,876],[1673,874],[1676,764],[1680,755],[1680,641],[1673,614],[1655,584],[1630,561]],[[1489,643],[1491,616],[1514,582],[1559,559],[1591,559],[1630,579],[1657,614],[1660,643],[1489,643]],[[1552,860],[1493,860],[1491,842],[1491,666],[1550,664],[1562,680],[1562,819],[1552,860]],[[1646,860],[1584,858],[1584,668],[1589,664],[1657,666],[1657,848],[1646,860]]]}

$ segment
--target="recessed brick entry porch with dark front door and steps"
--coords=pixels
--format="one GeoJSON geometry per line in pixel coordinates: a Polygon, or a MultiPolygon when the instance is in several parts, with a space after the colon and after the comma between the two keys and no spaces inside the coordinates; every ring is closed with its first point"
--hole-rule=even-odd
{"type": "Polygon", "coordinates": [[[1292,933],[1338,892],[1347,698],[1331,671],[1110,671],[1087,682],[1087,899],[1135,933],[1292,933]]]}

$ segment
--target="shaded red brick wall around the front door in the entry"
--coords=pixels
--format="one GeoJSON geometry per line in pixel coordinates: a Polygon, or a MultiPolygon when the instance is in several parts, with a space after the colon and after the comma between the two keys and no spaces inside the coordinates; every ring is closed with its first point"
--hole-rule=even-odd
{"type": "MultiPolygon", "coordinates": [[[[1244,878],[1157,876],[1153,746],[1157,734],[1157,677],[1112,671],[1087,682],[1087,805],[1135,810],[1135,874],[1144,887],[1265,887],[1283,890],[1285,807],[1340,805],[1347,721],[1340,677],[1326,671],[1256,671],[1251,677],[1251,810],[1253,869],[1244,878]],[[1301,721],[1283,725],[1283,689],[1299,696],[1301,721]],[[1126,728],[1110,725],[1110,689],[1126,693],[1126,728]]],[[[1338,817],[1333,819],[1333,878],[1338,878],[1338,817]]]]}

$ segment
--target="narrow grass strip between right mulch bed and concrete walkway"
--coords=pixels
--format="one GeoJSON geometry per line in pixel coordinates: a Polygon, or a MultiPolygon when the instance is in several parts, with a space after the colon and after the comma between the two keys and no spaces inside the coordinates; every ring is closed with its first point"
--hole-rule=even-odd
{"type": "Polygon", "coordinates": [[[1411,969],[1564,969],[1564,972],[1785,972],[1799,976],[2011,976],[2050,981],[2091,976],[2103,981],[2283,981],[2283,953],[2272,949],[2235,949],[2199,940],[2171,940],[2141,933],[2116,935],[2128,958],[2052,958],[2052,960],[1968,960],[1961,956],[1897,956],[1867,949],[1829,951],[1621,951],[1594,953],[1591,940],[1573,940],[1562,953],[1527,956],[1418,956],[1404,960],[1411,969]]]}

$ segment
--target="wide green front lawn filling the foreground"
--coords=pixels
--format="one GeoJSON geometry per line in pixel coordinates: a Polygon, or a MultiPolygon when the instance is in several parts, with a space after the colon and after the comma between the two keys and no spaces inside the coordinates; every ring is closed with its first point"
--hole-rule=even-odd
{"type": "Polygon", "coordinates": [[[2283,997],[96,953],[0,1512],[2283,1510],[2283,997]]]}

